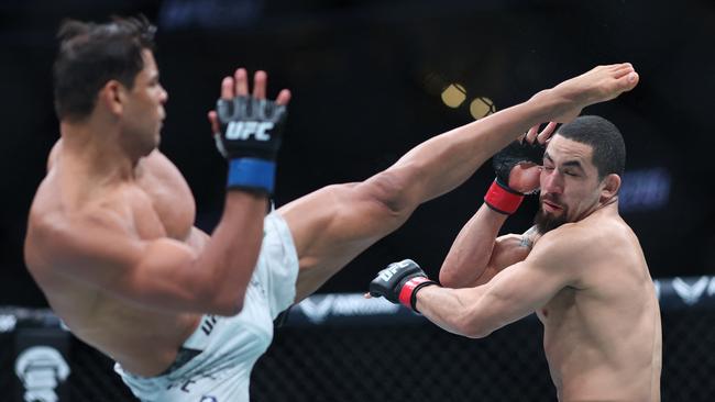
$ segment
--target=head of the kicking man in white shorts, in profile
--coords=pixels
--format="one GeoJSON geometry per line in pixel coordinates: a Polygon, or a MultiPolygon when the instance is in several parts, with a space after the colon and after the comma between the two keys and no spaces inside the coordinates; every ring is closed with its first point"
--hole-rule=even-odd
{"type": "Polygon", "coordinates": [[[103,24],[65,21],[54,66],[58,118],[82,123],[97,114],[118,129],[128,153],[154,149],[167,100],[153,55],[154,32],[143,15],[103,24]]]}

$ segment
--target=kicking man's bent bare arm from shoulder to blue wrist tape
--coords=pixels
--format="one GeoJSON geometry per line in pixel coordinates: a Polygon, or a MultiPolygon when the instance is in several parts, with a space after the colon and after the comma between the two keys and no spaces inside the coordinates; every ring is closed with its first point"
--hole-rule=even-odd
{"type": "Polygon", "coordinates": [[[168,237],[138,238],[107,211],[72,222],[31,215],[25,259],[143,308],[232,315],[257,260],[265,209],[265,197],[230,191],[212,237],[189,235],[188,244],[205,243],[200,252],[168,237]]]}

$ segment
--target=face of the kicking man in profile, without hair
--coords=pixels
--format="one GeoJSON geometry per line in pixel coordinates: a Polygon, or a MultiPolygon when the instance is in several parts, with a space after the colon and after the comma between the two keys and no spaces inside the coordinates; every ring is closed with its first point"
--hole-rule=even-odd
{"type": "Polygon", "coordinates": [[[158,69],[152,52],[142,54],[144,68],[136,75],[134,86],[128,91],[124,112],[124,130],[129,137],[127,145],[148,154],[160,142],[164,103],[168,94],[158,81],[158,69]]]}

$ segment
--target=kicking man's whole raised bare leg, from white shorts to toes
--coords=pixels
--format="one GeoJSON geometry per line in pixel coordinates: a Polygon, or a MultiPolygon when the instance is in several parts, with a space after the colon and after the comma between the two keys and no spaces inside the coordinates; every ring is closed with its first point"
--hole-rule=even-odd
{"type": "Polygon", "coordinates": [[[630,64],[598,66],[524,103],[430,138],[363,182],[329,186],[280,208],[300,261],[297,301],[399,227],[419,204],[464,182],[527,130],[548,121],[569,122],[588,104],[614,99],[637,83],[630,64]]]}

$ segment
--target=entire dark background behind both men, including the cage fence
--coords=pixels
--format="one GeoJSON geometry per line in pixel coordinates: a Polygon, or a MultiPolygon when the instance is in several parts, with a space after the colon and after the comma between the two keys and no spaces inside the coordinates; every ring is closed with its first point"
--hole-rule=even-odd
{"type": "MultiPolygon", "coordinates": [[[[59,401],[133,400],[112,361],[42,309],[22,246],[59,135],[52,99],[59,22],[136,13],[158,26],[156,56],[169,93],[161,149],[189,182],[197,225],[207,232],[222,210],[227,169],[206,112],[237,67],[268,71],[271,96],[280,88],[294,93],[275,194],[283,205],[330,183],[364,180],[425,139],[595,65],[632,63],[639,86],[584,113],[605,116],[625,136],[620,210],[660,278],[663,400],[713,400],[712,1],[2,0],[1,401],[26,401],[31,379],[50,379],[45,387],[57,380],[59,401]],[[672,277],[697,278],[666,279],[672,277]],[[21,357],[36,345],[59,350],[66,364],[23,369],[21,357]],[[36,377],[43,372],[48,377],[36,377]]],[[[436,277],[493,177],[486,165],[425,204],[326,283],[323,294],[294,308],[254,370],[253,400],[554,400],[535,316],[475,342],[355,294],[403,258],[436,277]],[[353,294],[336,294],[342,292],[353,294]]],[[[526,201],[504,232],[528,228],[536,208],[526,201]]]]}

